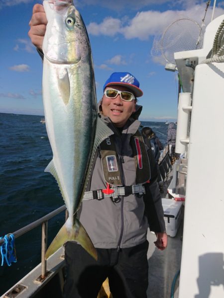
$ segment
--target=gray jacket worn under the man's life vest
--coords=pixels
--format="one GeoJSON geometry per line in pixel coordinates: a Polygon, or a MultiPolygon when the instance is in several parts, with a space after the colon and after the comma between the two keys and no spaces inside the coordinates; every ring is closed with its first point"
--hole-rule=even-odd
{"type": "MultiPolygon", "coordinates": [[[[135,162],[130,146],[130,137],[138,130],[140,122],[136,117],[141,107],[136,108],[133,118],[128,120],[122,134],[113,126],[108,117],[102,118],[112,129],[115,147],[122,157],[121,168],[125,186],[136,184],[135,162]]],[[[150,154],[149,154],[150,155],[150,154]]],[[[152,156],[149,156],[150,161],[152,156]]],[[[119,161],[118,161],[119,162],[119,161]]],[[[161,197],[156,182],[156,167],[151,167],[150,183],[146,184],[146,194],[120,196],[117,199],[87,200],[82,202],[80,222],[87,230],[97,248],[127,248],[146,240],[148,225],[151,230],[165,231],[161,197]],[[148,219],[147,219],[148,218],[148,219]]],[[[104,180],[100,154],[96,159],[90,190],[102,190],[107,187],[104,180]]]]}

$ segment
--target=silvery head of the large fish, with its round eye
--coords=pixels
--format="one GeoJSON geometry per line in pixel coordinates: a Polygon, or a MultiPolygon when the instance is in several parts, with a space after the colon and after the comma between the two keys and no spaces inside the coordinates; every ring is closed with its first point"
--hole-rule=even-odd
{"type": "Polygon", "coordinates": [[[77,64],[91,52],[82,16],[72,0],[44,0],[48,20],[43,41],[46,59],[56,64],[77,64]]]}

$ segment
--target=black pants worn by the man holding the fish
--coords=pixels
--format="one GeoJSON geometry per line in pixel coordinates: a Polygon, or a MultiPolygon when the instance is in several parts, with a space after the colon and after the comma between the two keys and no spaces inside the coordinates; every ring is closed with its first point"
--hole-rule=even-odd
{"type": "Polygon", "coordinates": [[[109,278],[113,298],[146,298],[148,241],[131,248],[97,248],[98,261],[75,242],[65,244],[64,298],[97,298],[109,278]]]}

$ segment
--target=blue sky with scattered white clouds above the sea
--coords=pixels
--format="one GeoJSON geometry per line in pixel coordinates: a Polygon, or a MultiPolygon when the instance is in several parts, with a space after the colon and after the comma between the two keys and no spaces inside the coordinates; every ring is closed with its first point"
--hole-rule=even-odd
{"type": "MultiPolygon", "coordinates": [[[[143,91],[139,119],[176,121],[177,72],[165,71],[165,64],[171,62],[173,51],[195,49],[208,1],[73,1],[89,34],[98,100],[113,72],[128,72],[136,76],[143,91]],[[196,37],[189,37],[192,32],[196,37]]],[[[44,115],[42,62],[27,35],[35,3],[42,1],[0,0],[2,113],[44,115]]],[[[213,4],[211,1],[205,24],[211,21],[213,4]]],[[[214,18],[222,14],[224,1],[217,0],[214,18]]]]}

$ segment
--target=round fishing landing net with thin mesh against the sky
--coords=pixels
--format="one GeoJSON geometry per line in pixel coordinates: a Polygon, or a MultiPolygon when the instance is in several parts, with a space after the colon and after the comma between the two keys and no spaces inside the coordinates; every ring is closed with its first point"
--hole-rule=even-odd
{"type": "Polygon", "coordinates": [[[175,64],[174,53],[201,49],[205,25],[189,18],[181,18],[170,24],[163,34],[155,36],[151,55],[161,64],[175,64]]]}

